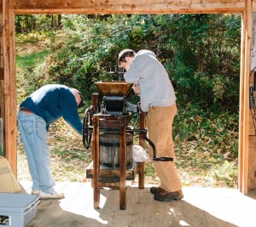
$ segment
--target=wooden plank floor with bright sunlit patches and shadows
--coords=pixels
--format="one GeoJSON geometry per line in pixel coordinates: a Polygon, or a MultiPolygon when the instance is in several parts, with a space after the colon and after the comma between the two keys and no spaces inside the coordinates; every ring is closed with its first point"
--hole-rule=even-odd
{"type": "MultiPolygon", "coordinates": [[[[20,184],[31,192],[31,182],[20,184]]],[[[89,182],[58,182],[55,189],[65,199],[41,200],[27,227],[256,226],[256,192],[243,196],[235,189],[183,187],[182,201],[160,202],[154,201],[150,186],[127,185],[125,210],[119,210],[119,190],[101,190],[101,208],[94,209],[89,182]]]]}

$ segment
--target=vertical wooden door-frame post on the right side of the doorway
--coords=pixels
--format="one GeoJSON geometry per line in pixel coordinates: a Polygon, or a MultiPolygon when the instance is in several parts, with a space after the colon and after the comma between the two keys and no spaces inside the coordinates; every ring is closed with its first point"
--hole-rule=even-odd
{"type": "Polygon", "coordinates": [[[246,1],[246,9],[242,14],[241,37],[241,99],[239,127],[239,190],[247,194],[248,187],[248,152],[249,152],[249,76],[252,36],[252,1],[246,1]],[[243,57],[244,56],[244,57],[243,57]]]}

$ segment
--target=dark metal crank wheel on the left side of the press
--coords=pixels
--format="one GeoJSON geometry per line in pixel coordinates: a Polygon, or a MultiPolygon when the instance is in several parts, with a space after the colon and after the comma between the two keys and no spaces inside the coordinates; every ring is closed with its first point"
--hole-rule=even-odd
{"type": "Polygon", "coordinates": [[[83,145],[86,149],[90,148],[90,142],[92,137],[92,105],[84,111],[83,120],[83,145]]]}

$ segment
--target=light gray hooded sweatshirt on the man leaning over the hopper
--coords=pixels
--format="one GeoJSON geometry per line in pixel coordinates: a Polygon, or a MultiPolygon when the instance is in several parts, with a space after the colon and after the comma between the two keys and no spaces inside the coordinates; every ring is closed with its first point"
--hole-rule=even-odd
{"type": "Polygon", "coordinates": [[[153,51],[140,50],[129,69],[125,72],[125,82],[140,85],[141,108],[149,106],[171,106],[176,96],[165,67],[156,59],[153,51]]]}

